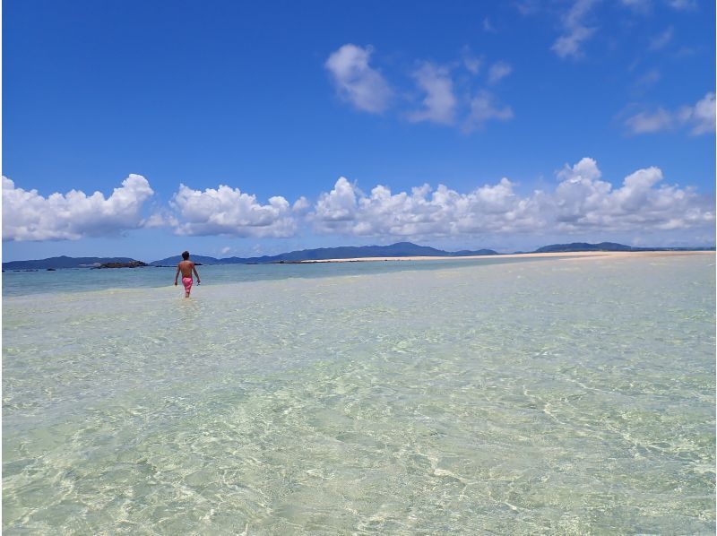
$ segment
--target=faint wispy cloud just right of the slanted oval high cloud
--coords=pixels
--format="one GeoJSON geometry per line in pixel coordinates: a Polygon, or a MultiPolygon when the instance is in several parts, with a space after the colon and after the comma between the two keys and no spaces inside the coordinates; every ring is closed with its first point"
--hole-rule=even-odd
{"type": "Polygon", "coordinates": [[[419,87],[426,91],[423,108],[411,112],[409,120],[431,121],[442,125],[451,125],[455,121],[454,84],[451,73],[446,67],[426,63],[413,73],[419,87]]]}

